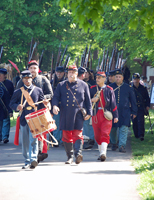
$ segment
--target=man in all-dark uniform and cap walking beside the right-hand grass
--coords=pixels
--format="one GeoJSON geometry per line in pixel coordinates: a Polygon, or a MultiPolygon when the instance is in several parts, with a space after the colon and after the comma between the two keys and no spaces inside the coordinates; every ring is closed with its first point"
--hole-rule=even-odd
{"type": "Polygon", "coordinates": [[[136,96],[136,103],[138,107],[137,117],[133,119],[133,131],[136,138],[144,140],[144,115],[148,114],[150,107],[150,98],[147,88],[140,84],[140,75],[138,73],[133,74],[133,88],[136,96]]]}

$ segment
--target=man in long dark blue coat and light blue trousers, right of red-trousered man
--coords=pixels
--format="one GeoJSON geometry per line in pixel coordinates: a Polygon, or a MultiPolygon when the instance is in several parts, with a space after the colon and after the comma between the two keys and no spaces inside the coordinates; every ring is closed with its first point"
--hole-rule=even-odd
{"type": "Polygon", "coordinates": [[[128,127],[130,126],[130,118],[134,119],[137,115],[137,106],[134,89],[127,83],[123,82],[123,73],[119,69],[116,71],[115,83],[110,84],[115,92],[116,103],[119,114],[118,123],[113,123],[110,138],[112,150],[117,147],[117,129],[119,127],[119,152],[125,153],[127,142],[128,127]]]}

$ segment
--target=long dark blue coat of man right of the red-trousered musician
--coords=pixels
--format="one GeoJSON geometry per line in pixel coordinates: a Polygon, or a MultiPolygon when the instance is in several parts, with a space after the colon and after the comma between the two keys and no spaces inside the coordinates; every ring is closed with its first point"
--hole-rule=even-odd
{"type": "Polygon", "coordinates": [[[110,84],[115,92],[116,103],[119,114],[119,121],[113,124],[113,127],[121,127],[122,125],[130,126],[131,114],[137,115],[137,106],[134,89],[127,83],[122,83],[118,88],[116,83],[110,84]],[[118,88],[118,89],[116,89],[118,88]]]}

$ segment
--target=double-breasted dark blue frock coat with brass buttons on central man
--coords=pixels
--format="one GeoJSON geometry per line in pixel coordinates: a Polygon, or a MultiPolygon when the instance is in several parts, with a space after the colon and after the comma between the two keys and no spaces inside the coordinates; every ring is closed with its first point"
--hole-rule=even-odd
{"type": "Polygon", "coordinates": [[[82,108],[84,104],[87,114],[92,115],[88,85],[79,79],[74,83],[70,83],[68,80],[62,81],[58,84],[52,99],[52,106],[58,106],[59,102],[61,102],[60,130],[82,130],[84,121],[82,113],[73,95],[67,89],[66,83],[76,97],[80,107],[82,108]]]}

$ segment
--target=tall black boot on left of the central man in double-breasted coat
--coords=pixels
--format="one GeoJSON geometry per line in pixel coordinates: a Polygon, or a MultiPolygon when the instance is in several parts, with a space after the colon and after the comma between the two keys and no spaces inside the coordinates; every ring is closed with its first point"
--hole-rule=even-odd
{"type": "Polygon", "coordinates": [[[68,160],[65,162],[65,164],[72,164],[73,162],[73,143],[67,143],[63,142],[64,148],[68,157],[68,160]]]}

